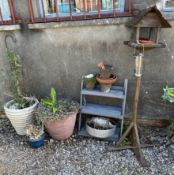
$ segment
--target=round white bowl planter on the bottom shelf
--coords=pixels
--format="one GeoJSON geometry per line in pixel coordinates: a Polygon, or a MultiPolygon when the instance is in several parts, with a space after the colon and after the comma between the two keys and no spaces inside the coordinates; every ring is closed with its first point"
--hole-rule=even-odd
{"type": "Polygon", "coordinates": [[[115,129],[116,125],[113,125],[107,118],[93,117],[86,121],[86,131],[93,137],[111,137],[115,129]]]}

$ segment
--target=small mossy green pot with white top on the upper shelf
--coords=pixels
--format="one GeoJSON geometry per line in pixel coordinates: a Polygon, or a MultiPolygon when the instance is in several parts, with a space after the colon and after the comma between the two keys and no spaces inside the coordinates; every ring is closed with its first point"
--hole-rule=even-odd
{"type": "Polygon", "coordinates": [[[96,77],[94,76],[94,74],[85,75],[83,77],[83,81],[86,89],[88,90],[94,89],[96,84],[96,77]]]}

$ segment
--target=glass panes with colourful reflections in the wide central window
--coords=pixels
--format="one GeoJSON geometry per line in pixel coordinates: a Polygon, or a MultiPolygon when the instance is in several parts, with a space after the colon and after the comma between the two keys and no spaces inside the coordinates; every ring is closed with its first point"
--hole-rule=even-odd
{"type": "Polygon", "coordinates": [[[115,11],[124,12],[124,5],[124,0],[39,0],[41,17],[69,16],[70,12],[73,16],[78,16],[84,13],[98,13],[98,10],[107,13],[112,12],[114,8],[115,11]]]}

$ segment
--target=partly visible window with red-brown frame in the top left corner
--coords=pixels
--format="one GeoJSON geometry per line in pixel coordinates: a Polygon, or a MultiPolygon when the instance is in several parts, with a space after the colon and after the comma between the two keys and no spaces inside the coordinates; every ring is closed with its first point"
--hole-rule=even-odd
{"type": "Polygon", "coordinates": [[[0,0],[0,24],[15,24],[18,22],[14,17],[12,0],[0,0]]]}

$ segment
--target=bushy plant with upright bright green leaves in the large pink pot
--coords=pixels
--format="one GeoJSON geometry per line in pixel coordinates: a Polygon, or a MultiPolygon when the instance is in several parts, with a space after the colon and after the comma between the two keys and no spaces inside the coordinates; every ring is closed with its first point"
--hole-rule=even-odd
{"type": "Polygon", "coordinates": [[[57,93],[54,87],[50,89],[50,98],[41,99],[41,104],[36,110],[39,121],[58,120],[65,117],[70,112],[75,112],[79,108],[76,101],[70,99],[57,100],[57,93]]]}

